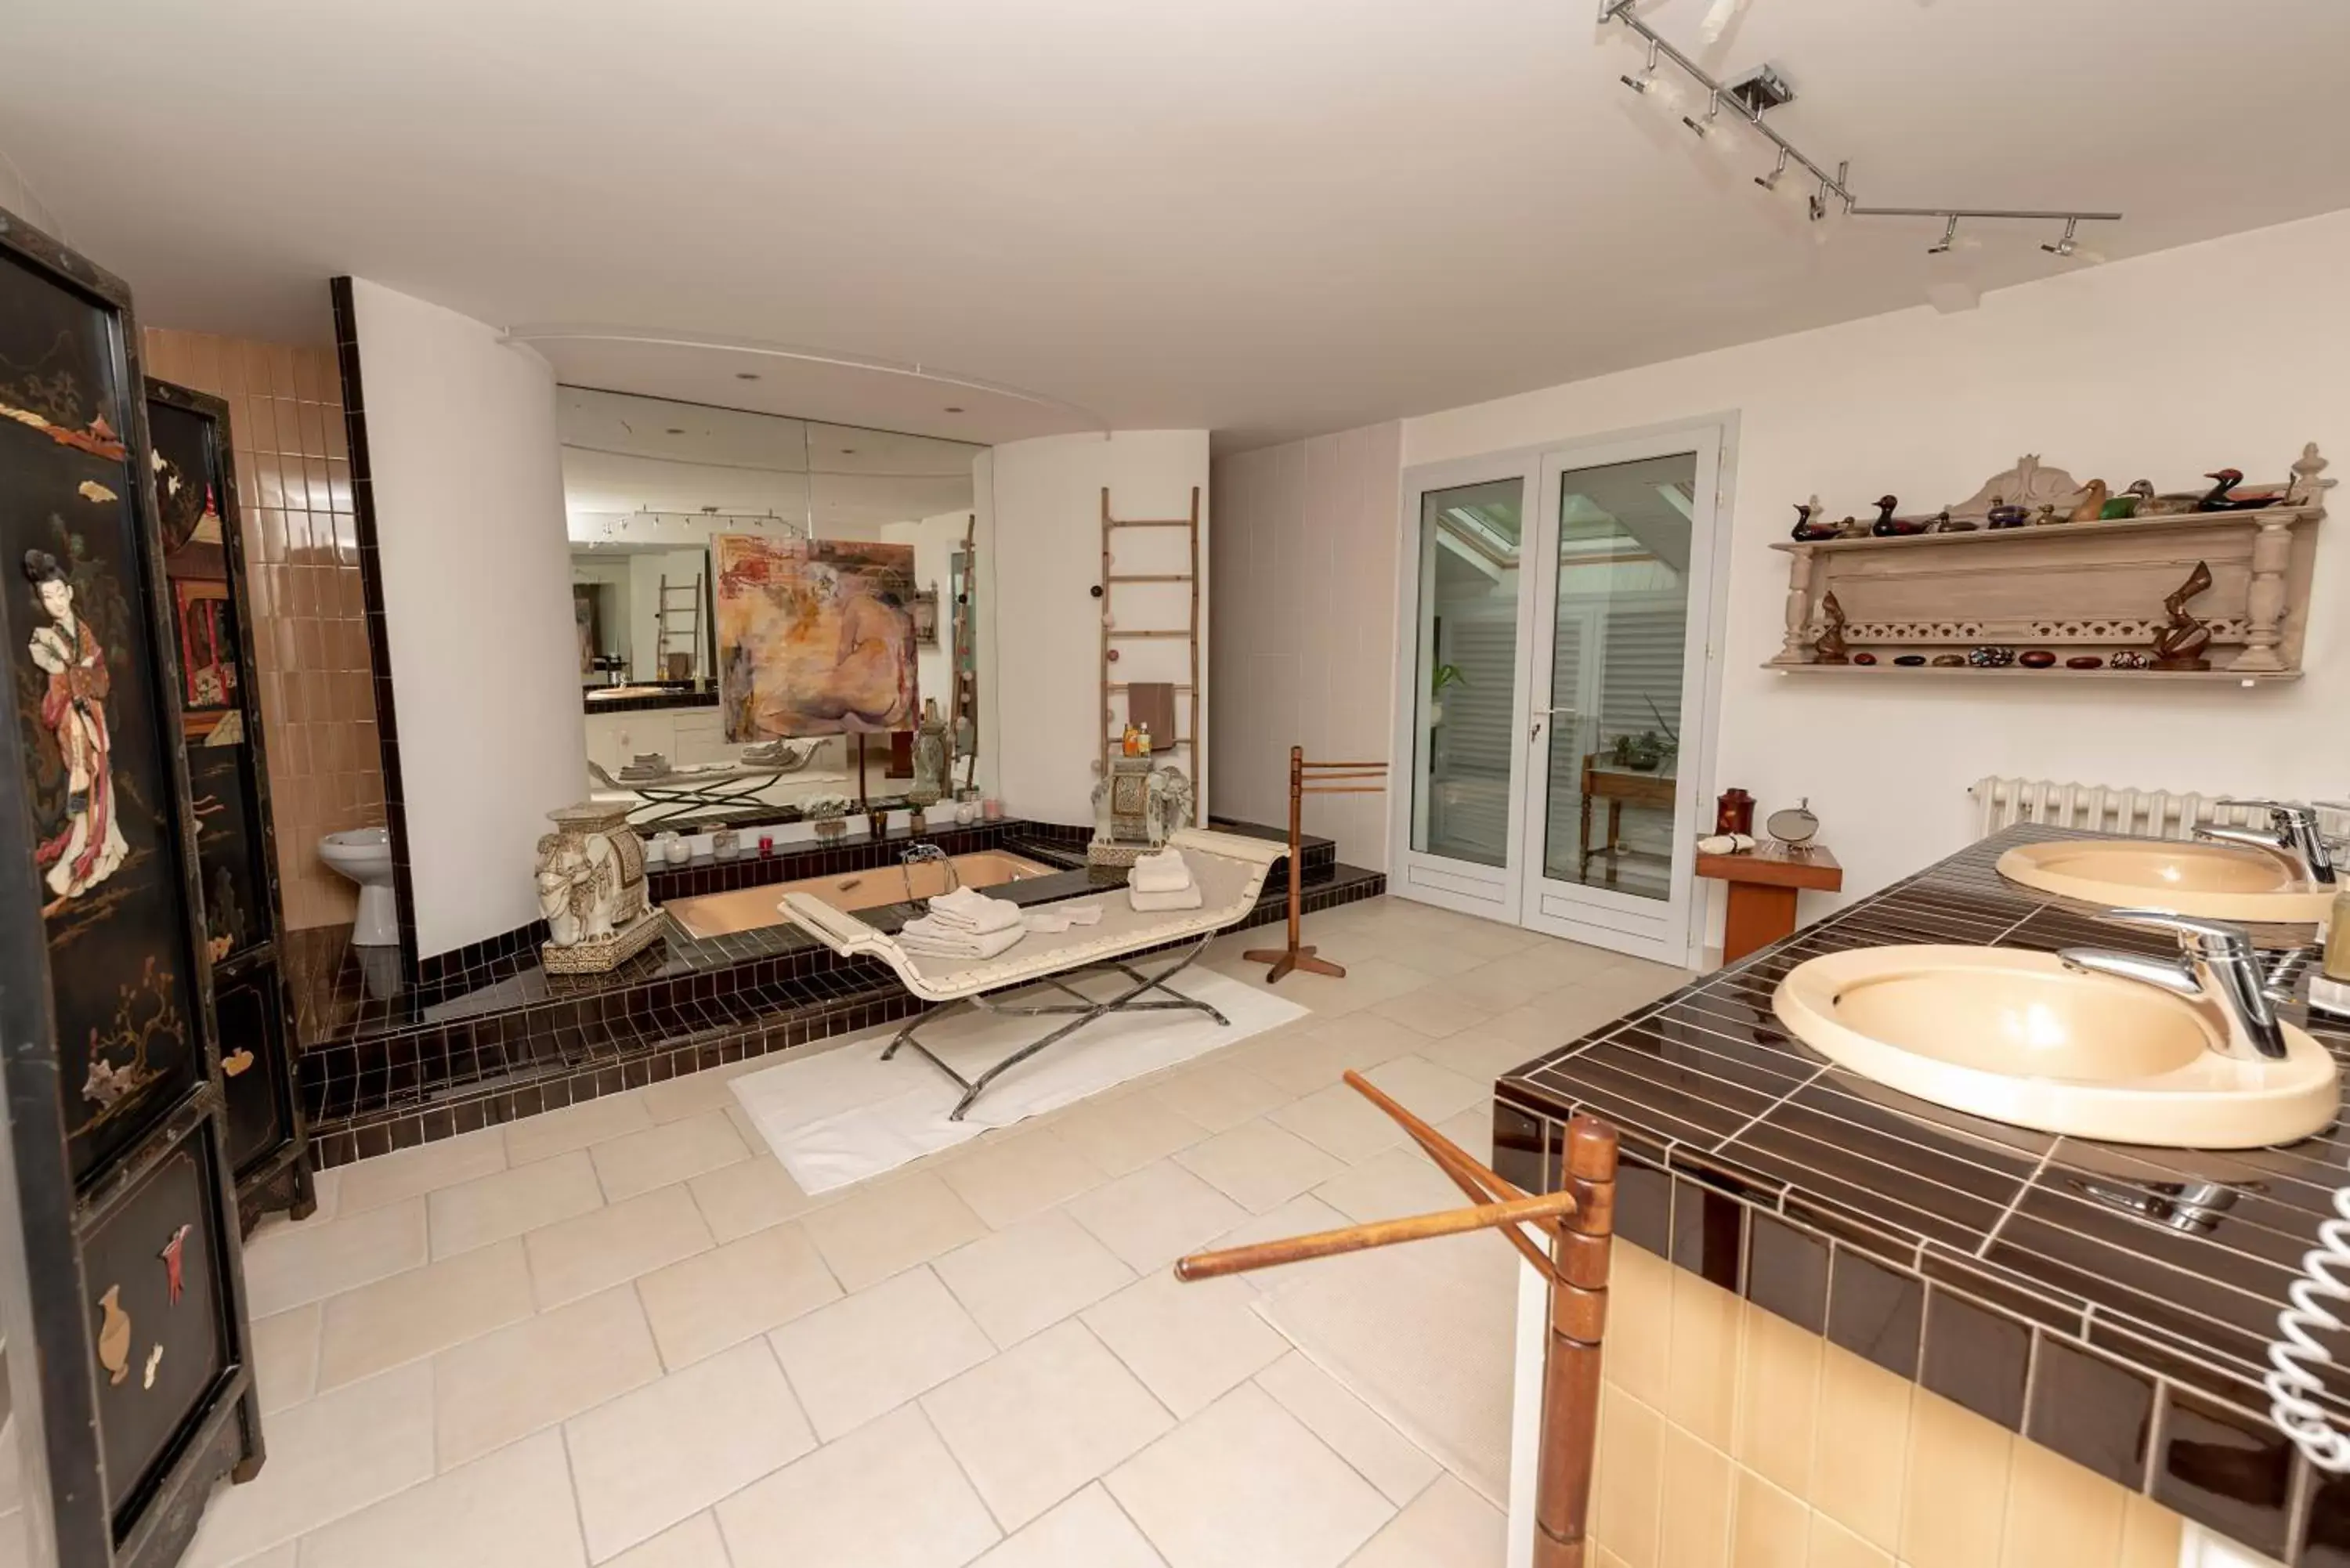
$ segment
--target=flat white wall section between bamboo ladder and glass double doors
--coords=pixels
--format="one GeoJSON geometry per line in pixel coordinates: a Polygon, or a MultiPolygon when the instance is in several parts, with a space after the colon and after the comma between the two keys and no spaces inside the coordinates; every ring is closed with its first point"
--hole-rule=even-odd
{"type": "MultiPolygon", "coordinates": [[[[1321,762],[1394,741],[1403,428],[1370,425],[1215,461],[1215,722],[1224,816],[1290,820],[1290,748],[1321,762]]],[[[1340,860],[1386,867],[1389,795],[1307,799],[1340,860]]]]}

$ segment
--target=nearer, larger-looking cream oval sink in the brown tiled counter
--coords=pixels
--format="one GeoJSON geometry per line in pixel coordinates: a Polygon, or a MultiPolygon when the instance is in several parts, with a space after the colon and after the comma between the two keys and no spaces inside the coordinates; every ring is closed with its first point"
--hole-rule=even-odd
{"type": "Polygon", "coordinates": [[[2188,1001],[2014,947],[1859,947],[1798,964],[1772,1011],[1831,1063],[2042,1133],[2251,1150],[2329,1126],[2334,1056],[2284,1025],[2282,1063],[2221,1056],[2188,1001]]]}

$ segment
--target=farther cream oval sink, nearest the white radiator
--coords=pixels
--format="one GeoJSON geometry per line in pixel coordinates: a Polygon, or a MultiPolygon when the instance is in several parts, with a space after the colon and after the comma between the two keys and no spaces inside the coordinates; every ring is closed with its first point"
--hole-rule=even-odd
{"type": "Polygon", "coordinates": [[[2324,919],[2334,889],[2312,889],[2258,849],[2164,839],[2019,844],[1998,860],[2009,882],[2108,907],[2251,922],[2324,919]]]}

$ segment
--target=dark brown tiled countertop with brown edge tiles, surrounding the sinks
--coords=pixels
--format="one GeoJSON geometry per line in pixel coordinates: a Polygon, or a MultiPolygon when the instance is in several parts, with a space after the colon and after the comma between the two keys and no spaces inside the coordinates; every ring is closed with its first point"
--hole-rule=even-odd
{"type": "MultiPolygon", "coordinates": [[[[2301,1462],[2261,1389],[2287,1286],[2350,1185],[2341,1121],[2247,1152],[2054,1138],[1831,1067],[1772,1016],[1788,969],[1849,947],[2176,952],[1993,870],[2068,837],[2092,835],[1983,839],[1518,1067],[1495,1088],[1497,1161],[1551,1190],[1563,1119],[1600,1114],[1624,1135],[1626,1241],[2232,1540],[2350,1566],[2350,1479],[2301,1462]]],[[[2263,929],[2280,978],[2315,957],[2308,936],[2263,929]]],[[[2350,1032],[2312,1034],[2350,1056],[2350,1032]]],[[[2350,1427],[2350,1375],[2331,1394],[2350,1427]]]]}

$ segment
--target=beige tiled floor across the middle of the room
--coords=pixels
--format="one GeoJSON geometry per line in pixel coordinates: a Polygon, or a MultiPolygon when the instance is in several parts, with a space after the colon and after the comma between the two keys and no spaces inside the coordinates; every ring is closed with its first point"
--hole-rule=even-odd
{"type": "Polygon", "coordinates": [[[1680,976],[1386,898],[1307,933],[1309,1018],[822,1199],[738,1070],[327,1173],[247,1248],[270,1460],[190,1568],[1497,1568],[1278,1276],[1166,1265],[1457,1204],[1340,1074],[1483,1145],[1497,1072],[1680,976]]]}

